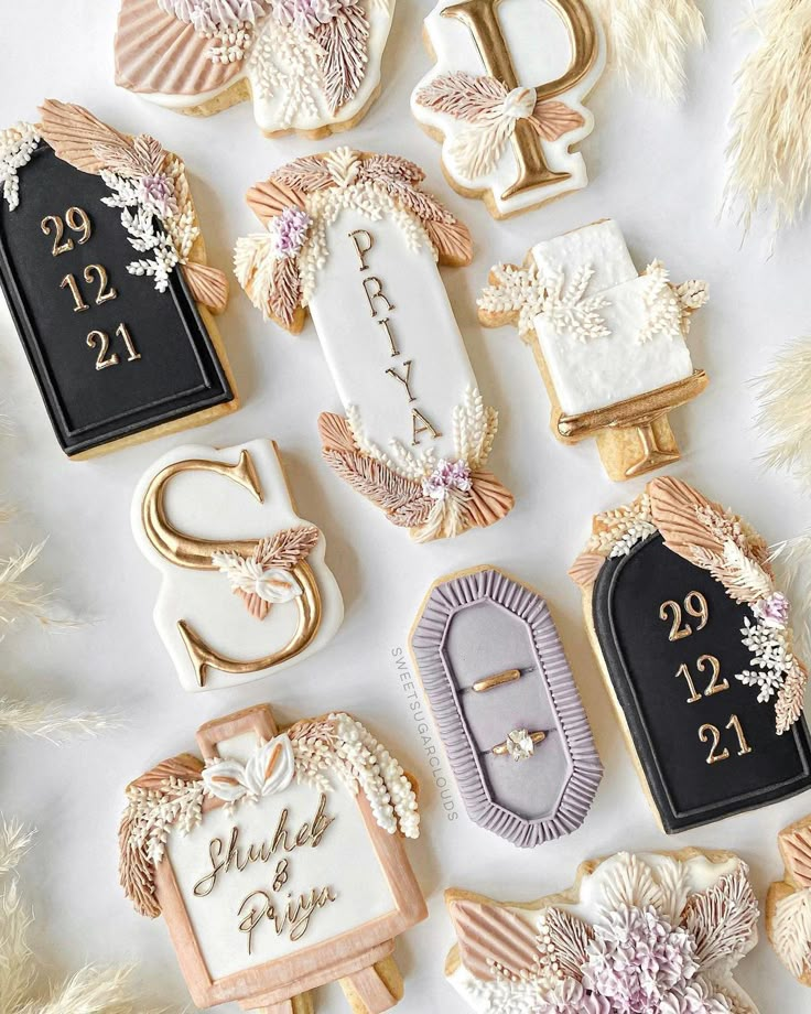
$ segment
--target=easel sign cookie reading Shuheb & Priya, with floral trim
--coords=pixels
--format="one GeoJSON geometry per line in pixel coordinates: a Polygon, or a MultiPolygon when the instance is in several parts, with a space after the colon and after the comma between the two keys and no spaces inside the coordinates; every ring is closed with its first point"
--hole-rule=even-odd
{"type": "Polygon", "coordinates": [[[127,789],[121,885],[162,915],[198,1007],[313,1011],[340,981],[356,1014],[403,993],[394,939],[428,915],[403,838],[411,779],[352,715],[279,729],[269,705],[203,725],[127,789]]]}

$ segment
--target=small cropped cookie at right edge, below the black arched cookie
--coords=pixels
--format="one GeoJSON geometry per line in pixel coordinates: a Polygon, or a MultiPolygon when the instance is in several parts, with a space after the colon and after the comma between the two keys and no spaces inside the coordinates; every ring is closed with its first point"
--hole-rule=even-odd
{"type": "Polygon", "coordinates": [[[811,985],[811,817],[783,828],[777,842],[786,875],[769,887],[766,932],[794,979],[811,985]]]}

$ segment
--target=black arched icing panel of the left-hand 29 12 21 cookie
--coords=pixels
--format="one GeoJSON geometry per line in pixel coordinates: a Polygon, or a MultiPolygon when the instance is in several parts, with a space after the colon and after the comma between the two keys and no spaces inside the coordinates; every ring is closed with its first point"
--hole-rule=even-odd
{"type": "Polygon", "coordinates": [[[109,191],[100,176],[83,173],[41,144],[20,170],[20,204],[10,211],[0,201],[0,282],[29,362],[36,376],[60,444],[77,454],[121,436],[230,401],[234,397],[196,304],[175,270],[160,293],[151,278],[129,274],[139,257],[129,244],[120,211],[101,198],[109,191]],[[65,218],[83,208],[93,234],[72,250],[52,255],[53,236],[41,228],[47,215],[65,218]],[[101,265],[118,298],[95,305],[98,283],[83,278],[88,265],[101,265]],[[67,288],[73,274],[89,309],[77,313],[67,288]],[[126,324],[141,358],[127,362],[116,335],[126,324]],[[110,336],[119,365],[96,369],[98,350],[87,335],[110,336]]]}

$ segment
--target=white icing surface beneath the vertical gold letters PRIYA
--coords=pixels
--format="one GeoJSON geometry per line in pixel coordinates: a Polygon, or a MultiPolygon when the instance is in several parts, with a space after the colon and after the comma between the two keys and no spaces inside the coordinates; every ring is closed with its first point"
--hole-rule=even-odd
{"type": "MultiPolygon", "coordinates": [[[[328,246],[310,312],[344,407],[360,409],[366,435],[381,450],[392,439],[411,449],[411,410],[417,409],[441,434],[433,440],[422,433],[417,450],[433,445],[440,456],[453,457],[453,410],[476,378],[432,251],[424,245],[410,250],[396,223],[369,222],[354,209],[343,211],[329,226],[328,246]],[[366,229],[375,240],[366,255],[367,271],[360,270],[349,239],[355,229],[366,229]],[[377,319],[364,289],[368,278],[379,279],[393,306],[387,311],[382,300],[375,300],[377,319]],[[378,323],[382,317],[389,320],[398,356],[391,355],[386,328],[378,323]],[[394,368],[403,375],[409,359],[413,402],[403,385],[386,374],[394,368]]],[[[376,291],[374,284],[367,288],[376,291]]]]}

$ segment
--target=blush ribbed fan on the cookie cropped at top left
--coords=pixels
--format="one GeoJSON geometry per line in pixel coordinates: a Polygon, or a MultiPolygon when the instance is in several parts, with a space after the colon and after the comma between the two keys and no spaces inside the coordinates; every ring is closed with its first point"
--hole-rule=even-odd
{"type": "Polygon", "coordinates": [[[116,32],[116,84],[131,91],[203,95],[233,80],[241,65],[214,62],[209,39],[165,13],[155,0],[122,0],[116,32]]]}

